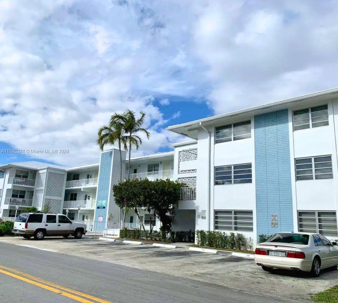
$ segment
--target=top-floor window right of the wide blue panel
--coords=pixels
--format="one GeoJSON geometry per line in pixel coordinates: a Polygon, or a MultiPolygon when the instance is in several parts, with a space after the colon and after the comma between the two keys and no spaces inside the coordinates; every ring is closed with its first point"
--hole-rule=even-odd
{"type": "Polygon", "coordinates": [[[293,112],[293,130],[329,125],[328,105],[293,112]]]}

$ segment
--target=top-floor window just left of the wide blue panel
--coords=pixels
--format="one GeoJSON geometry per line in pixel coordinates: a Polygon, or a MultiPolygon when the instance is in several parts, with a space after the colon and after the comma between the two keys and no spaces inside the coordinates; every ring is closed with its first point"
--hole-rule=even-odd
{"type": "Polygon", "coordinates": [[[234,123],[215,128],[215,144],[251,138],[251,121],[234,123]]]}

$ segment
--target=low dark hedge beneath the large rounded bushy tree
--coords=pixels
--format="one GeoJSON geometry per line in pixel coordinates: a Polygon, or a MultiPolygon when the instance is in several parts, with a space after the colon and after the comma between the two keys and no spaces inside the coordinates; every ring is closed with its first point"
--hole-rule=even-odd
{"type": "Polygon", "coordinates": [[[149,231],[143,231],[139,229],[128,230],[127,228],[120,230],[120,238],[125,239],[150,239],[155,241],[170,241],[170,242],[194,242],[195,233],[191,230],[185,231],[171,231],[169,233],[162,231],[153,231],[149,235],[149,231]]]}

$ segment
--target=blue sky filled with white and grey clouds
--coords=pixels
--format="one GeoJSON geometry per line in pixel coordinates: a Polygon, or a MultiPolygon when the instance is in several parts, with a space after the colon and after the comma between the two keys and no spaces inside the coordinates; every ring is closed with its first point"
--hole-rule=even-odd
{"type": "Polygon", "coordinates": [[[0,164],[99,161],[97,130],[169,125],[337,87],[336,1],[0,0],[0,164]],[[64,149],[68,153],[9,153],[64,149]]]}

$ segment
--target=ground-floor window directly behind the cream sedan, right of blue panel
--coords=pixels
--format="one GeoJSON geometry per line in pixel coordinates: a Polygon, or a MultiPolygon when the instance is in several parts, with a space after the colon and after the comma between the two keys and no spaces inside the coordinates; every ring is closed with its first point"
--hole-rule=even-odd
{"type": "Polygon", "coordinates": [[[338,235],[336,212],[300,211],[298,224],[300,232],[334,237],[338,235]]]}

